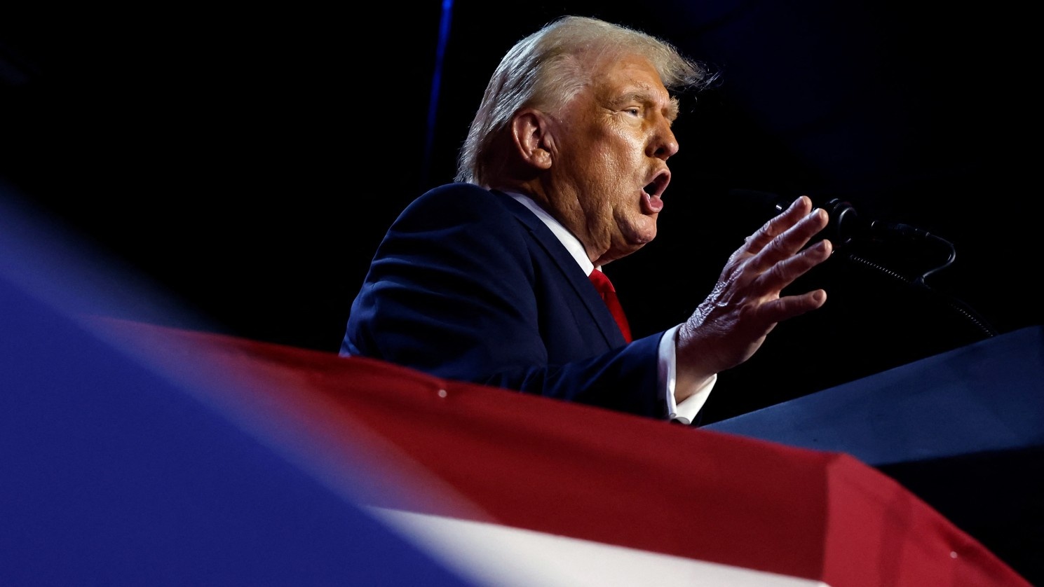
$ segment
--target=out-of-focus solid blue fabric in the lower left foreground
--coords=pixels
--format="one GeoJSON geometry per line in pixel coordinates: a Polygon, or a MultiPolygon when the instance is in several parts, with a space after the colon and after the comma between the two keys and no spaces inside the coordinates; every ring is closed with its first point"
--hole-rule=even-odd
{"type": "Polygon", "coordinates": [[[58,238],[38,226],[25,235],[39,243],[14,243],[20,222],[0,215],[0,585],[470,584],[346,498],[372,483],[361,461],[334,488],[276,435],[200,401],[212,391],[88,331],[58,303],[114,300],[21,254],[58,238]]]}

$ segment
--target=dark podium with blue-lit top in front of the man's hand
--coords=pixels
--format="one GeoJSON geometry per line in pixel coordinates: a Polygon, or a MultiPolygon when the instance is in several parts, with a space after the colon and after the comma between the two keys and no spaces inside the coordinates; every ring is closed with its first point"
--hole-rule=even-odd
{"type": "Polygon", "coordinates": [[[852,455],[1044,584],[1044,326],[704,427],[852,455]]]}

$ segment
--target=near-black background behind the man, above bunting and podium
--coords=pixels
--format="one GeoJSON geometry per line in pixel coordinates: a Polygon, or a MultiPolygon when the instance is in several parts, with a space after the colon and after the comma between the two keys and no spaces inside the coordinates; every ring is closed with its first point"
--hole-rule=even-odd
{"type": "Polygon", "coordinates": [[[933,235],[840,247],[796,286],[828,288],[827,305],[722,373],[708,421],[1044,323],[1028,14],[599,4],[5,6],[5,195],[155,279],[200,317],[182,325],[336,351],[384,229],[452,178],[500,55],[556,16],[598,16],[721,72],[683,96],[660,236],[607,269],[636,335],[685,319],[768,217],[732,190],[933,235]],[[946,243],[952,263],[909,284],[946,243]]]}

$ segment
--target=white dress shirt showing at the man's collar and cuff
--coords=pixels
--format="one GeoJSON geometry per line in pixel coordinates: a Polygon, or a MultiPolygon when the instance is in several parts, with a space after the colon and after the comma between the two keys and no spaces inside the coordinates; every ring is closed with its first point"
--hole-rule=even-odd
{"type": "MultiPolygon", "coordinates": [[[[540,207],[536,201],[529,196],[524,194],[517,194],[514,192],[505,192],[507,195],[512,196],[523,205],[532,211],[540,218],[547,227],[554,233],[554,236],[562,241],[563,246],[566,250],[573,255],[576,263],[579,264],[580,268],[584,269],[584,273],[587,275],[591,274],[591,271],[601,271],[600,267],[595,267],[591,260],[588,259],[587,251],[584,250],[584,245],[580,243],[579,239],[575,235],[566,229],[561,222],[554,219],[550,214],[544,209],[540,207]]],[[[663,338],[660,339],[660,359],[659,359],[659,390],[661,397],[666,400],[667,414],[666,416],[672,420],[678,420],[682,423],[688,424],[692,422],[692,419],[696,417],[696,413],[699,409],[704,407],[707,398],[711,394],[711,389],[717,382],[717,375],[711,376],[703,386],[699,386],[695,392],[689,397],[685,398],[681,402],[674,400],[674,393],[677,391],[677,377],[675,372],[675,344],[678,340],[678,328],[681,324],[673,326],[663,334],[663,338]]]]}

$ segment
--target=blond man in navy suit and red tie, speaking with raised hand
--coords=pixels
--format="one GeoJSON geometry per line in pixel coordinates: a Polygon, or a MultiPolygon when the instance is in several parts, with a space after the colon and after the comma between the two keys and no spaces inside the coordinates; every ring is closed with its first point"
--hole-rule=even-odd
{"type": "MultiPolygon", "coordinates": [[[[341,354],[697,421],[717,373],[825,303],[823,290],[781,292],[832,251],[806,247],[828,216],[798,198],[685,322],[628,340],[601,267],[656,237],[679,149],[671,92],[712,78],[670,44],[597,19],[522,39],[490,79],[455,181],[411,202],[378,247],[341,354]]],[[[656,278],[681,286],[683,272],[656,278]]]]}

